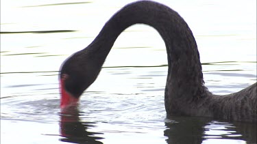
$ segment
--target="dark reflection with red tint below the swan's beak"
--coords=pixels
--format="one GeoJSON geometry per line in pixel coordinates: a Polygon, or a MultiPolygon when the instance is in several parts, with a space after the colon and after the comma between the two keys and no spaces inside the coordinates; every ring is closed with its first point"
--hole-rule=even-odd
{"type": "Polygon", "coordinates": [[[89,132],[88,128],[94,127],[93,122],[82,122],[79,119],[77,106],[63,109],[60,113],[60,141],[70,143],[101,143],[97,141],[103,139],[95,134],[99,132],[89,132]]]}

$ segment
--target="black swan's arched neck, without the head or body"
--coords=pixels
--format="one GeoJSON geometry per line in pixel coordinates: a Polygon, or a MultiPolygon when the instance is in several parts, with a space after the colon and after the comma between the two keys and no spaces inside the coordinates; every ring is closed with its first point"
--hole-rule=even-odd
{"type": "Polygon", "coordinates": [[[136,23],[154,27],[165,42],[169,65],[165,96],[199,98],[204,81],[195,38],[183,18],[164,5],[151,1],[126,5],[86,49],[102,65],[121,32],[136,23]]]}

